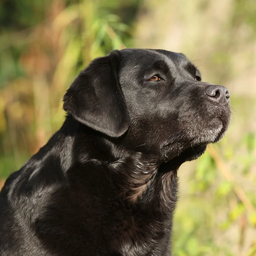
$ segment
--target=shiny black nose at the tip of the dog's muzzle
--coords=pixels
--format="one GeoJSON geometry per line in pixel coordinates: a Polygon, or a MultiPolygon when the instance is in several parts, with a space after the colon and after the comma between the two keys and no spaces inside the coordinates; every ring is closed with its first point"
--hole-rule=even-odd
{"type": "Polygon", "coordinates": [[[222,85],[211,84],[206,87],[205,93],[210,97],[210,99],[216,102],[229,102],[230,93],[227,88],[222,85]]]}

